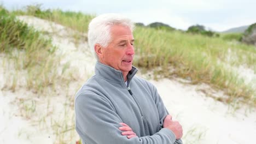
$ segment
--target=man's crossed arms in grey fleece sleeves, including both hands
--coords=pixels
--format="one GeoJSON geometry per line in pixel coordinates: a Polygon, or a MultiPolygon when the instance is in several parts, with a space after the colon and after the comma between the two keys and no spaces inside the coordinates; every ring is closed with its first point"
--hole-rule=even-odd
{"type": "MultiPolygon", "coordinates": [[[[158,109],[165,110],[161,99],[158,103],[158,109]]],[[[79,94],[75,100],[75,114],[75,129],[82,140],[88,143],[182,143],[181,125],[172,121],[166,112],[159,112],[162,128],[158,133],[142,137],[136,136],[129,125],[123,123],[109,101],[95,93],[79,94]]]]}

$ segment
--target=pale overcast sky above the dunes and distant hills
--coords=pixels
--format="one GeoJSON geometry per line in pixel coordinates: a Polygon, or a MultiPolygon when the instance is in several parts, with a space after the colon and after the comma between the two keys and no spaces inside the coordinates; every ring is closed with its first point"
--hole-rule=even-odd
{"type": "Polygon", "coordinates": [[[89,14],[120,13],[148,25],[164,22],[186,30],[199,24],[216,31],[256,22],[255,0],[0,0],[5,8],[39,3],[42,8],[60,8],[89,14]]]}

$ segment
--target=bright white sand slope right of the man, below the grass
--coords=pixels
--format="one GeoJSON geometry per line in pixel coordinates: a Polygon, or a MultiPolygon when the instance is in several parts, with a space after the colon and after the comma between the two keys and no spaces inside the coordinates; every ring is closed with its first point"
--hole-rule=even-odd
{"type": "Polygon", "coordinates": [[[233,111],[232,107],[229,109],[229,106],[196,91],[199,86],[167,79],[152,82],[158,87],[168,111],[182,123],[184,143],[256,141],[255,109],[251,112],[246,111],[248,109],[233,111]]]}

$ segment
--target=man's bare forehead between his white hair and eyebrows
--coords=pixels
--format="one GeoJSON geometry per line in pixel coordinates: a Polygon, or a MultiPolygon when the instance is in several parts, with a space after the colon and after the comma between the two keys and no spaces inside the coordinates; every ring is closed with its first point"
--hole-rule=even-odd
{"type": "Polygon", "coordinates": [[[132,40],[132,31],[127,26],[114,25],[110,28],[110,33],[113,40],[132,40]]]}

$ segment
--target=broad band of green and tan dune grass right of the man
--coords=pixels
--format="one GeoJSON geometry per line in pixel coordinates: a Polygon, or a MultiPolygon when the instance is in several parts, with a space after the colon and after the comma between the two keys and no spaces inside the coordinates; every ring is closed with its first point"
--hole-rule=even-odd
{"type": "Polygon", "coordinates": [[[255,69],[254,46],[144,27],[137,27],[134,35],[138,55],[134,64],[138,67],[157,71],[155,74],[165,77],[189,77],[192,83],[208,83],[230,96],[228,99],[218,99],[227,103],[239,100],[256,104],[255,89],[246,85],[232,69],[241,64],[255,69]],[[170,70],[170,66],[175,70],[170,70]],[[156,67],[160,69],[156,70],[156,67]]]}

